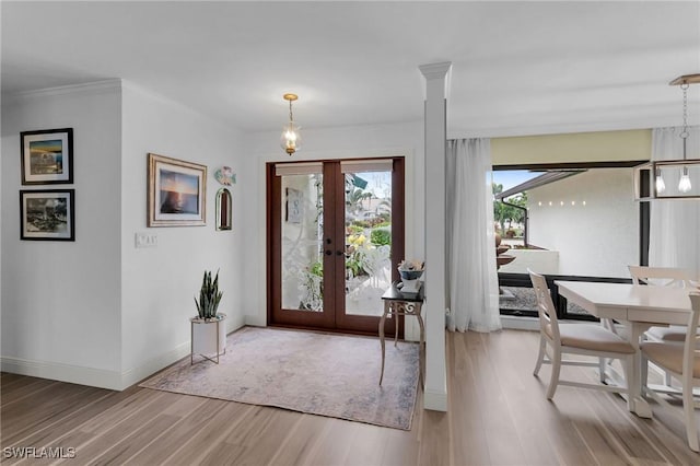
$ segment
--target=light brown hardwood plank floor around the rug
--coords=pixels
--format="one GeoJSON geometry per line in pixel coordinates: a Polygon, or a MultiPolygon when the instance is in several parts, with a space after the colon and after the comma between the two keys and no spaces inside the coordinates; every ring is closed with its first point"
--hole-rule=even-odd
{"type": "MultiPolygon", "coordinates": [[[[130,387],[110,392],[3,373],[2,464],[697,465],[680,421],[627,411],[616,395],[532,375],[538,334],[447,334],[450,411],[412,430],[130,387]],[[21,459],[13,447],[58,459],[21,459]],[[42,450],[45,447],[54,450],[42,450]],[[62,447],[63,450],[58,450],[62,447]],[[74,448],[74,450],[71,450],[74,448]],[[70,458],[68,456],[74,456],[70,458]]],[[[378,357],[378,348],[377,348],[378,357]]],[[[567,377],[593,380],[585,368],[567,377]]]]}

